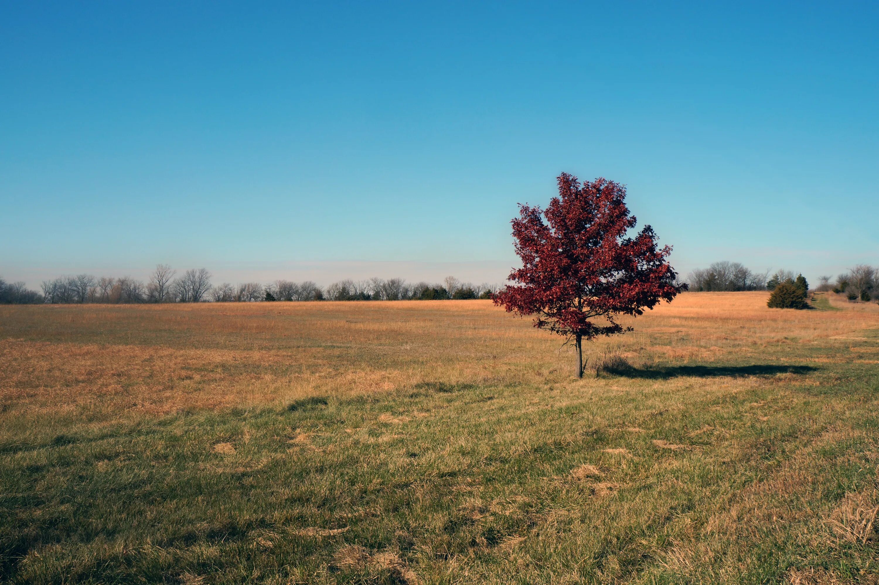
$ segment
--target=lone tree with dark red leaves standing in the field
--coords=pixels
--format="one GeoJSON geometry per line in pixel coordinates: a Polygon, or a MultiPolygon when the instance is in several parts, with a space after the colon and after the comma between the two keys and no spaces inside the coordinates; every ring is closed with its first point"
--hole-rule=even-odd
{"type": "Polygon", "coordinates": [[[512,235],[522,267],[508,277],[516,284],[493,299],[507,312],[536,314],[534,327],[573,340],[582,378],[584,339],[631,331],[617,315],[643,314],[686,285],[675,284],[677,274],[665,261],[672,248],[657,249],[652,227],[627,236],[636,218],[628,214],[623,185],[598,178],[581,186],[563,173],[558,195],[545,211],[519,205],[512,235]],[[591,321],[596,317],[603,321],[591,321]]]}

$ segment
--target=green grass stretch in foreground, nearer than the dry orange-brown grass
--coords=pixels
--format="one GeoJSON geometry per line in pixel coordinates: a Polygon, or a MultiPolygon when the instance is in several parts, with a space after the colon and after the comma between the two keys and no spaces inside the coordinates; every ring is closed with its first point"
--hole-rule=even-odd
{"type": "Polygon", "coordinates": [[[825,562],[868,570],[873,537],[840,542],[825,521],[875,489],[875,377],[840,396],[824,385],[845,372],[711,368],[675,379],[768,383],[428,385],[5,432],[0,571],[12,583],[759,583],[825,562]]]}

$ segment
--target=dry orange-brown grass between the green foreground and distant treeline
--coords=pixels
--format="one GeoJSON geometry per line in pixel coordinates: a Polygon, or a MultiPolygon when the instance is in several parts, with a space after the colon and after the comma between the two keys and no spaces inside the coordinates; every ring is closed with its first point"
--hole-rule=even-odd
{"type": "MultiPolygon", "coordinates": [[[[607,352],[636,365],[756,358],[768,344],[845,344],[879,325],[875,304],[832,303],[846,310],[769,309],[766,293],[684,293],[626,320],[635,333],[587,351],[592,364],[607,352]]],[[[0,307],[0,401],[166,414],[436,379],[564,382],[572,355],[561,343],[481,300],[0,307]]],[[[855,361],[875,361],[857,351],[855,361]]]]}

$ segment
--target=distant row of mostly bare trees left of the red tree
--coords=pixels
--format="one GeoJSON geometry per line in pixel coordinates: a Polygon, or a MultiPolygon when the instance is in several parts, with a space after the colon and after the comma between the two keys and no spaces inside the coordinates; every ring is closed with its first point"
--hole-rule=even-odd
{"type": "Polygon", "coordinates": [[[78,303],[180,303],[180,302],[257,302],[272,300],[466,300],[488,299],[494,285],[463,283],[447,277],[441,284],[409,284],[403,278],[340,280],[322,288],[311,281],[275,280],[269,284],[248,282],[239,285],[211,284],[206,269],[177,271],[159,264],[147,282],[136,278],[96,278],[77,274],[44,280],[41,291],[29,290],[25,283],[6,283],[0,278],[0,303],[78,304],[78,303]]]}

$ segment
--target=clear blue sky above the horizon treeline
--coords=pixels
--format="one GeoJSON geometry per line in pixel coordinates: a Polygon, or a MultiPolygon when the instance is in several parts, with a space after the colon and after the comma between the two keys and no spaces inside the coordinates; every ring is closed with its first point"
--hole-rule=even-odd
{"type": "Polygon", "coordinates": [[[627,184],[685,273],[879,264],[877,29],[868,2],[4,2],[0,274],[498,282],[563,170],[627,184]]]}

